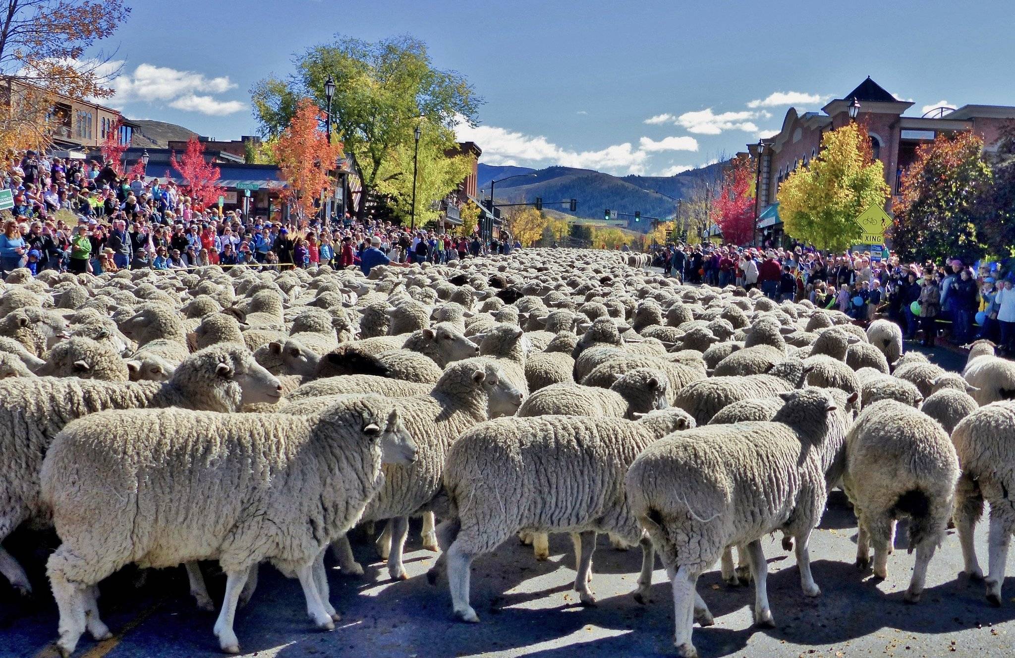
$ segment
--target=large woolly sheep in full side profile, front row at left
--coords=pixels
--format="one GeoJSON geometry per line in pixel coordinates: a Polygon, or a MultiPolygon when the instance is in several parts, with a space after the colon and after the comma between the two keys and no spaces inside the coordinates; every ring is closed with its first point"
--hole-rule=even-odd
{"type": "Polygon", "coordinates": [[[144,409],[69,424],[42,471],[63,541],[47,568],[61,653],[72,653],[85,630],[96,640],[111,637],[95,585],[132,563],[217,560],[226,585],[214,631],[226,653],[240,652],[236,603],[263,560],[294,574],[311,618],[334,629],[324,549],[383,482],[382,462],[415,457],[398,413],[377,396],[310,417],[144,409]]]}

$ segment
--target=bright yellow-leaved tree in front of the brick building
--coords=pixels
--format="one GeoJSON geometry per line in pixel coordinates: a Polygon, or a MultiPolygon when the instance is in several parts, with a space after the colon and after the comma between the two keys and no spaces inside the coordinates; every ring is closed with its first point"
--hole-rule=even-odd
{"type": "Polygon", "coordinates": [[[889,192],[866,128],[854,122],[824,133],[818,156],[783,182],[779,214],[790,237],[841,251],[860,240],[857,216],[883,206],[889,192]]]}

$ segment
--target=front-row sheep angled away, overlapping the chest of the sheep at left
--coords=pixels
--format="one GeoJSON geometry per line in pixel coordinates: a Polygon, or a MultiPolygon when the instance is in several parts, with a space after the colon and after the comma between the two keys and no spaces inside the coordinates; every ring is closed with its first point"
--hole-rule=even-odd
{"type": "Polygon", "coordinates": [[[804,594],[820,589],[810,570],[808,540],[827,497],[825,471],[841,450],[848,415],[832,397],[807,388],[783,394],[770,422],[717,424],[672,435],[631,464],[625,490],[673,583],[680,656],[696,656],[694,618],[712,613],[695,593],[698,576],[724,548],[746,544],[755,584],[755,622],[773,626],[760,539],[783,530],[795,540],[804,594]]]}

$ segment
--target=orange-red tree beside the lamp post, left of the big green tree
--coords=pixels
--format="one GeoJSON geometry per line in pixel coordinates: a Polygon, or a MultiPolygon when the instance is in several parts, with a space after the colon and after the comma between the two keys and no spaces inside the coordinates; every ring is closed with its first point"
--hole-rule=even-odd
{"type": "Polygon", "coordinates": [[[286,182],[282,198],[292,204],[299,219],[316,211],[314,199],[330,194],[334,182],[328,170],[334,169],[342,144],[329,144],[321,124],[324,114],[310,98],[296,104],[296,113],[275,142],[275,160],[286,182]]]}

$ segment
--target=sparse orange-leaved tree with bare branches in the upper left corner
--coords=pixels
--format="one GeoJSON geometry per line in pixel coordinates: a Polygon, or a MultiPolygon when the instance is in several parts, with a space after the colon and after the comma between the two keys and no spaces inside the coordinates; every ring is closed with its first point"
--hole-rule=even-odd
{"type": "MultiPolygon", "coordinates": [[[[7,0],[0,10],[0,76],[8,107],[0,148],[48,146],[71,118],[54,112],[58,95],[106,98],[119,66],[85,52],[130,15],[123,0],[7,0]]],[[[68,135],[69,136],[69,135],[68,135]]]]}

